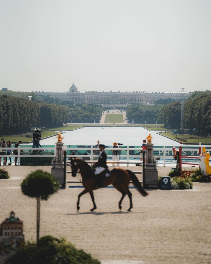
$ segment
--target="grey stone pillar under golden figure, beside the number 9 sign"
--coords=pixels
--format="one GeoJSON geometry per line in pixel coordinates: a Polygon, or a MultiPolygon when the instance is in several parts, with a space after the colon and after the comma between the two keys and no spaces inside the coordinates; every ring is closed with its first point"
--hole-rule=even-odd
{"type": "Polygon", "coordinates": [[[145,186],[146,189],[157,189],[158,187],[158,172],[157,163],[153,157],[153,144],[146,144],[146,164],[145,164],[145,186]]]}

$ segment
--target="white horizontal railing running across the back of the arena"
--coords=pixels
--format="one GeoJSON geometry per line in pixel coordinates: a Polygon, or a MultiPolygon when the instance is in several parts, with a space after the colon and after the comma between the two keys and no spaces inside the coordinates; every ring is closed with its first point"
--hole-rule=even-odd
{"type": "MultiPolygon", "coordinates": [[[[1,155],[1,152],[0,152],[0,158],[2,157],[15,157],[17,158],[17,165],[20,165],[20,158],[21,156],[22,157],[35,157],[35,158],[43,158],[43,157],[49,157],[49,158],[52,158],[52,157],[55,157],[55,153],[56,153],[56,146],[53,148],[53,147],[42,147],[42,148],[28,148],[28,147],[24,147],[24,146],[18,146],[18,148],[0,148],[0,151],[2,150],[5,150],[5,152],[7,152],[7,150],[18,150],[18,153],[17,155],[14,155],[14,154],[11,154],[11,155],[1,155]],[[54,150],[54,156],[52,155],[33,155],[32,153],[29,154],[29,155],[21,155],[21,150],[24,149],[24,150],[45,150],[45,153],[48,153],[48,152],[51,152],[52,150],[54,150]],[[48,152],[46,152],[46,150],[48,150],[48,152]]],[[[88,155],[83,155],[83,154],[77,154],[77,155],[67,155],[67,157],[80,157],[80,158],[90,158],[90,161],[93,161],[94,158],[98,158],[98,155],[94,155],[94,150],[98,150],[99,151],[99,148],[94,148],[94,147],[67,147],[67,146],[63,146],[63,150],[84,150],[84,151],[87,151],[87,150],[90,150],[90,154],[88,155]]],[[[129,161],[130,158],[140,158],[140,156],[138,155],[130,155],[129,154],[129,151],[130,150],[142,150],[142,148],[130,148],[129,146],[127,146],[127,148],[105,148],[105,150],[118,150],[118,151],[121,151],[121,150],[124,150],[127,152],[126,155],[121,155],[120,157],[121,158],[124,158],[123,160],[124,161],[129,161]]],[[[171,148],[167,148],[167,147],[163,147],[163,148],[154,148],[154,151],[158,150],[159,151],[159,154],[163,153],[163,155],[154,155],[154,158],[163,158],[163,165],[165,167],[165,164],[166,164],[166,159],[172,159],[173,158],[173,152],[172,152],[172,149],[171,148]],[[169,155],[169,154],[172,154],[172,155],[169,155]]],[[[199,152],[199,148],[184,148],[183,150],[183,155],[185,156],[186,154],[184,152],[186,151],[192,151],[192,154],[194,154],[194,151],[197,151],[197,155],[198,155],[198,152],[199,152]]],[[[211,148],[206,148],[206,151],[209,151],[211,152],[211,148]]],[[[24,153],[27,153],[27,152],[24,152],[24,153]]],[[[191,157],[195,157],[196,159],[199,158],[199,156],[195,156],[195,155],[192,155],[191,154],[191,157]]],[[[188,156],[188,155],[187,155],[188,156]]],[[[112,155],[107,155],[108,158],[112,158],[112,155]]],[[[121,160],[120,161],[116,161],[116,163],[121,163],[121,160]]]]}

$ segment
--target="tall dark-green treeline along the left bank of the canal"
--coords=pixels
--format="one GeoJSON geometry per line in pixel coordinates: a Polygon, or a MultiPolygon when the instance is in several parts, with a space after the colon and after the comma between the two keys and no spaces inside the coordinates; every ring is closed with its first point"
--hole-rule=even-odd
{"type": "Polygon", "coordinates": [[[0,96],[0,117],[1,134],[26,132],[32,126],[61,126],[69,120],[67,107],[5,95],[0,96]]]}

